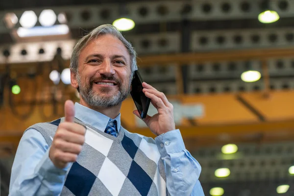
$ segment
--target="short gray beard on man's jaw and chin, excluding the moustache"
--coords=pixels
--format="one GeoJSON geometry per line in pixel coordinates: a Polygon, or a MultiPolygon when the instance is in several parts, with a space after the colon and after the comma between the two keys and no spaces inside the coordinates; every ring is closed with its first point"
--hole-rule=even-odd
{"type": "MultiPolygon", "coordinates": [[[[109,108],[116,105],[119,105],[123,102],[125,98],[127,98],[128,94],[130,93],[130,86],[131,86],[131,78],[129,80],[129,84],[126,87],[122,86],[122,83],[118,83],[117,86],[119,90],[109,96],[102,96],[95,92],[92,88],[92,84],[82,84],[79,74],[76,74],[77,83],[79,86],[79,94],[84,99],[84,101],[91,105],[92,107],[103,107],[109,108]]],[[[104,88],[101,89],[101,92],[107,94],[109,89],[104,88]]]]}

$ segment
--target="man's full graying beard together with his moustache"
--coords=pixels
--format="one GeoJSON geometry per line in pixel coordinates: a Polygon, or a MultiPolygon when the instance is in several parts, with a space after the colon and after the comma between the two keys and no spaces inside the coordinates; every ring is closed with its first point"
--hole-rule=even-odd
{"type": "Polygon", "coordinates": [[[125,98],[127,98],[130,93],[131,86],[131,78],[127,85],[123,85],[122,81],[114,76],[103,76],[101,75],[99,78],[93,78],[90,80],[90,83],[82,83],[79,74],[76,74],[76,80],[78,83],[79,94],[84,99],[84,101],[91,105],[92,107],[103,107],[109,108],[116,105],[119,105],[123,102],[125,98]],[[101,87],[100,93],[93,90],[94,81],[101,80],[111,80],[116,83],[118,90],[114,93],[110,93],[112,89],[107,87],[101,87]]]}

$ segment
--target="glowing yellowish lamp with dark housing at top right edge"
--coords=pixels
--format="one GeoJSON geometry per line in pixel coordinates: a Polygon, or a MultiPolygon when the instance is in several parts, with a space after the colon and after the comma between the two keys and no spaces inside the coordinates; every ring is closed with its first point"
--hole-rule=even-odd
{"type": "Polygon", "coordinates": [[[270,7],[270,0],[263,0],[260,4],[261,13],[258,20],[261,23],[274,23],[280,19],[279,14],[270,7]]]}

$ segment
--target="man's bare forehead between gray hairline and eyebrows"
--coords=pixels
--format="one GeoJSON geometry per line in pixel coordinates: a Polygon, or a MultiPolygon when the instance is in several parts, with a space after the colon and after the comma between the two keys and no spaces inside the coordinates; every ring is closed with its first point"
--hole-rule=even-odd
{"type": "Polygon", "coordinates": [[[130,62],[130,55],[123,42],[112,35],[101,35],[91,40],[80,53],[81,58],[91,54],[101,54],[104,57],[123,55],[130,62]]]}

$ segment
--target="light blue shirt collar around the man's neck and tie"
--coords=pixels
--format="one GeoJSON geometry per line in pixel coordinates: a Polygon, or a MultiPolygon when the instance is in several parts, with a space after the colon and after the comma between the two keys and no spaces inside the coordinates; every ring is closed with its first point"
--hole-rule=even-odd
{"type": "MultiPolygon", "coordinates": [[[[78,120],[84,123],[90,124],[91,126],[103,132],[106,129],[106,126],[110,120],[110,118],[105,116],[104,114],[101,114],[100,112],[96,110],[92,110],[88,107],[85,107],[77,102],[74,104],[74,111],[75,111],[75,115],[74,115],[75,118],[77,118],[78,120]]],[[[114,120],[117,121],[117,131],[120,132],[121,113],[114,120]]]]}

